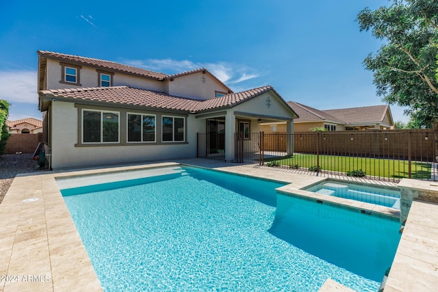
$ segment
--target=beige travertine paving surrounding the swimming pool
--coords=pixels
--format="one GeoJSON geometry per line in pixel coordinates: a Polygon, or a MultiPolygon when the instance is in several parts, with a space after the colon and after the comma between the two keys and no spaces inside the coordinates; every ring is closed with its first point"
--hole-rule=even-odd
{"type": "MultiPolygon", "coordinates": [[[[281,191],[296,196],[307,196],[300,192],[301,187],[326,179],[211,159],[188,159],[177,163],[284,181],[291,184],[281,191]]],[[[102,291],[55,177],[174,164],[149,163],[16,176],[0,204],[0,291],[102,291]]],[[[394,209],[376,209],[374,205],[370,207],[360,202],[324,200],[326,202],[352,204],[352,209],[369,208],[383,216],[396,215],[394,209]]],[[[435,291],[438,287],[437,222],[438,204],[413,202],[385,291],[435,291]]]]}

